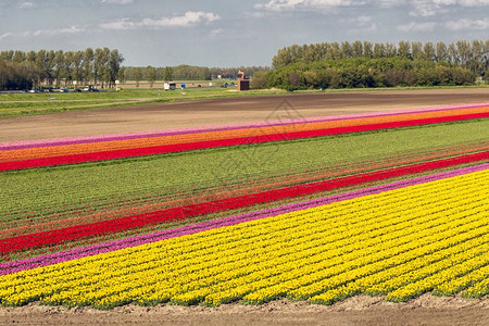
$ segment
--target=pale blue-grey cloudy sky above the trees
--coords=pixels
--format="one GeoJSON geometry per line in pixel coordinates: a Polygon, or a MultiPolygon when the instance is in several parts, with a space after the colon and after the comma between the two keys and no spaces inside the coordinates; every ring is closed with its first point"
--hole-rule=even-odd
{"type": "Polygon", "coordinates": [[[0,50],[109,47],[125,65],[269,65],[292,43],[488,37],[489,0],[0,0],[0,50]]]}

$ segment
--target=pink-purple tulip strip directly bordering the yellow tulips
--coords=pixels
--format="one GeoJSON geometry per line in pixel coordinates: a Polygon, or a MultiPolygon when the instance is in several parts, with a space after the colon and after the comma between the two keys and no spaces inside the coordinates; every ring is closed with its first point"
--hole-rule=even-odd
{"type": "Polygon", "coordinates": [[[408,179],[408,180],[396,181],[396,183],[391,183],[391,184],[387,184],[387,185],[375,186],[375,187],[371,187],[371,188],[366,188],[366,189],[361,189],[361,190],[350,191],[347,193],[309,200],[309,201],[304,201],[304,202],[300,202],[300,203],[287,204],[287,205],[279,206],[279,208],[272,208],[272,209],[266,209],[266,210],[262,210],[262,211],[258,211],[258,212],[202,222],[199,224],[186,225],[186,226],[181,226],[181,227],[177,227],[177,228],[173,228],[173,229],[168,229],[168,230],[161,230],[161,231],[156,231],[153,234],[141,235],[141,236],[131,237],[131,238],[127,238],[127,239],[104,242],[104,243],[98,243],[98,244],[93,244],[93,246],[89,246],[89,247],[76,248],[76,249],[72,249],[72,250],[67,250],[67,251],[35,256],[35,258],[30,258],[30,259],[12,261],[12,262],[0,264],[0,275],[12,274],[12,273],[16,273],[16,272],[25,271],[25,269],[32,269],[32,268],[40,267],[40,266],[52,265],[52,264],[57,264],[57,263],[61,263],[61,262],[65,262],[65,261],[70,261],[70,260],[76,260],[76,259],[80,259],[84,256],[95,255],[95,254],[99,254],[99,253],[103,253],[103,252],[120,250],[120,249],[129,248],[129,247],[136,247],[136,246],[154,242],[154,241],[160,241],[160,240],[164,240],[164,239],[181,237],[185,235],[196,234],[196,233],[200,233],[200,231],[204,231],[204,230],[209,230],[209,229],[214,229],[214,228],[229,226],[229,225],[236,225],[239,223],[264,218],[264,217],[268,217],[268,216],[274,216],[277,214],[284,214],[284,213],[305,210],[305,209],[325,205],[325,204],[329,204],[329,203],[334,203],[334,202],[338,202],[338,201],[342,201],[342,200],[353,199],[353,198],[363,197],[363,196],[367,196],[367,195],[379,193],[379,192],[384,192],[384,191],[388,191],[388,190],[393,190],[393,189],[408,187],[408,186],[412,186],[412,185],[418,185],[418,184],[438,180],[438,179],[442,179],[442,178],[453,177],[453,176],[473,173],[473,172],[477,172],[477,171],[482,171],[482,170],[487,170],[487,168],[489,168],[489,163],[464,167],[464,168],[459,168],[455,171],[438,173],[435,175],[412,178],[412,179],[408,179]]]}

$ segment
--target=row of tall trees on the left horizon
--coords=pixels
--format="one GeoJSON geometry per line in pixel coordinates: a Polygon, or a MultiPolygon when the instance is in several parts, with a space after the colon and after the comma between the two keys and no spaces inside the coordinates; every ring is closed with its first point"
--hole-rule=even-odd
{"type": "Polygon", "coordinates": [[[87,48],[82,51],[1,51],[0,89],[28,89],[93,84],[115,85],[124,61],[118,50],[87,48]]]}

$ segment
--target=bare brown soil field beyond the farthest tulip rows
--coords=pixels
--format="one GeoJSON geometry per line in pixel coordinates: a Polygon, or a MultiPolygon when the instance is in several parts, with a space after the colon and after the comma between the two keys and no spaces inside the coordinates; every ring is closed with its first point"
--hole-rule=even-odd
{"type": "Polygon", "coordinates": [[[489,88],[253,96],[0,118],[0,142],[263,121],[280,104],[321,116],[489,102],[489,88]]]}

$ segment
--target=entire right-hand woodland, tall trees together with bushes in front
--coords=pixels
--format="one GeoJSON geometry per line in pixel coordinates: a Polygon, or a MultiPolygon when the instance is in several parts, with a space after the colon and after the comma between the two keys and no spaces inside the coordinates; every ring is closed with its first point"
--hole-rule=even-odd
{"type": "Polygon", "coordinates": [[[254,88],[353,88],[472,85],[489,78],[489,40],[452,43],[322,42],[283,48],[254,88]]]}

